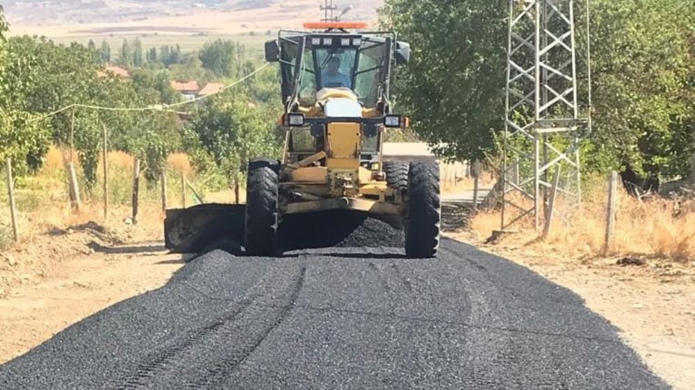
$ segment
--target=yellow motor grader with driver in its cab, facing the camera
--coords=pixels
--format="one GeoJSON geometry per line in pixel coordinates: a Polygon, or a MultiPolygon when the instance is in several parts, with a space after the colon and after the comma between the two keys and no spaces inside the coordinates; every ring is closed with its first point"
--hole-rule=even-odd
{"type": "Polygon", "coordinates": [[[292,214],[353,210],[402,226],[407,257],[436,255],[439,165],[384,161],[381,153],[389,129],[409,126],[391,112],[389,94],[391,71],[407,64],[409,44],[364,27],[310,23],[265,43],[265,59],[279,63],[285,141],[280,161],[248,165],[246,253],[278,255],[279,227],[292,214]]]}

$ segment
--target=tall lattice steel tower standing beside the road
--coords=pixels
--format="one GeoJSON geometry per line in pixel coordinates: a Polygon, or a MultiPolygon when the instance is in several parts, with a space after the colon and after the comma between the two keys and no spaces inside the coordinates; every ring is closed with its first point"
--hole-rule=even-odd
{"type": "MultiPolygon", "coordinates": [[[[587,36],[588,21],[587,4],[587,36]]],[[[510,0],[508,43],[502,231],[539,230],[556,173],[564,210],[581,199],[579,140],[591,125],[578,102],[575,1],[510,0]]]]}

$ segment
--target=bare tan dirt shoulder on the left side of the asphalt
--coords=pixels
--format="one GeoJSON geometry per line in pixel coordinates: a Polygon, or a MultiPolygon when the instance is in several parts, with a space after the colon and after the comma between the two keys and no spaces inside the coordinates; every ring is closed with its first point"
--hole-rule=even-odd
{"type": "Polygon", "coordinates": [[[167,254],[159,226],[88,222],[3,250],[0,364],[99,310],[164,285],[183,260],[167,254]]]}

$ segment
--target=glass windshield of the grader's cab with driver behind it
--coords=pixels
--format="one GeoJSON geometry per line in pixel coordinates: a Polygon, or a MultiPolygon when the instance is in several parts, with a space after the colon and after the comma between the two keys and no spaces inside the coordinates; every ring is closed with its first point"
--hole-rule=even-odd
{"type": "MultiPolygon", "coordinates": [[[[298,45],[293,39],[281,41],[283,72],[293,80],[298,45]]],[[[383,72],[386,71],[386,44],[383,38],[363,37],[361,44],[352,47],[313,47],[306,45],[300,69],[300,105],[316,104],[316,94],[323,88],[347,88],[357,95],[366,108],[375,108],[384,94],[383,72]]],[[[294,90],[288,86],[288,90],[294,90]]]]}

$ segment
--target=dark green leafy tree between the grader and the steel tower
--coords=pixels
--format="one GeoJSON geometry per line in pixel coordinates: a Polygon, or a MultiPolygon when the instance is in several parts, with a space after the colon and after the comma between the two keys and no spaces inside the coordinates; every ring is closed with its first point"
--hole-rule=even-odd
{"type": "Polygon", "coordinates": [[[495,150],[504,116],[507,0],[386,0],[382,24],[412,46],[396,72],[400,111],[441,152],[475,160],[495,150]]]}

